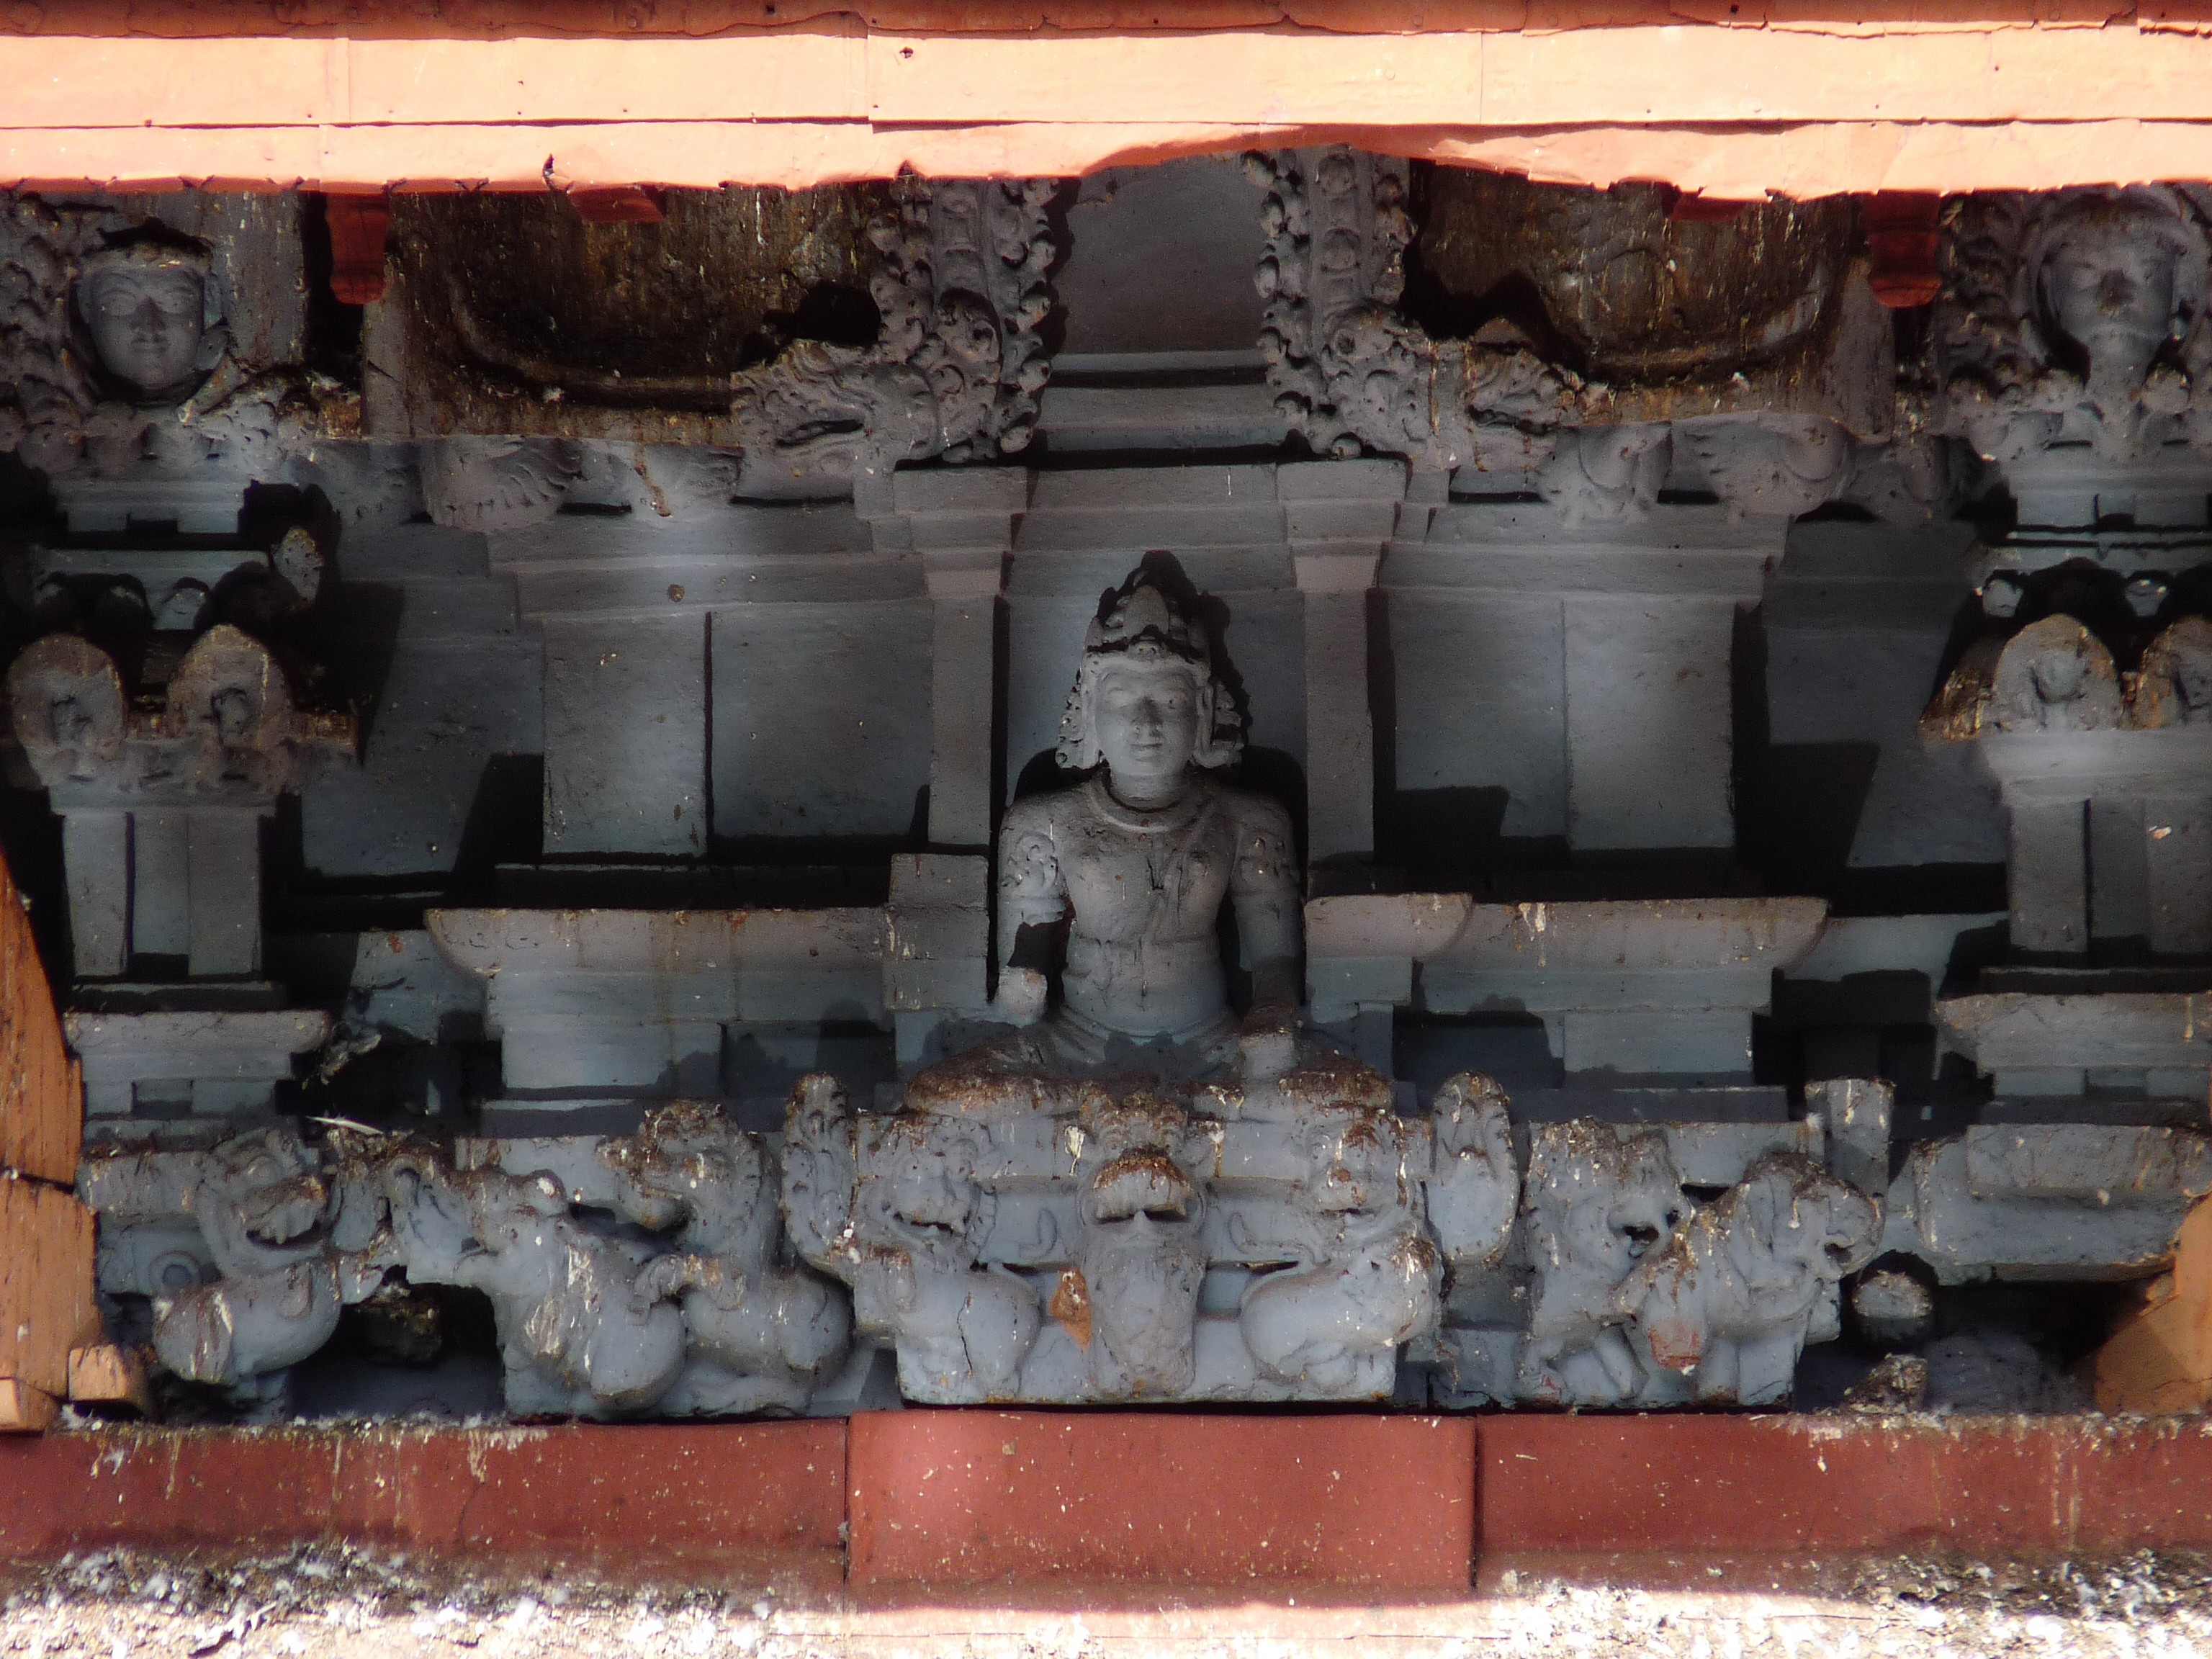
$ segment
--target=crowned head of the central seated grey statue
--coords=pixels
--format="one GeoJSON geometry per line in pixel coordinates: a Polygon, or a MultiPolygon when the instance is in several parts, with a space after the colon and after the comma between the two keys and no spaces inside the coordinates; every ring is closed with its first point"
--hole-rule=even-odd
{"type": "Polygon", "coordinates": [[[1214,675],[1206,628],[1137,571],[1106,595],[1060,714],[1060,765],[1175,776],[1243,752],[1237,701],[1214,675]]]}

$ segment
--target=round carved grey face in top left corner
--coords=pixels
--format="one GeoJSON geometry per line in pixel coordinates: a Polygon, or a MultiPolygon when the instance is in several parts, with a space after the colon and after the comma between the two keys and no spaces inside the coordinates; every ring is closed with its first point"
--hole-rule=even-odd
{"type": "Polygon", "coordinates": [[[131,403],[181,403],[221,363],[221,327],[208,254],[168,241],[128,241],[84,261],[75,312],[93,356],[131,403]]]}

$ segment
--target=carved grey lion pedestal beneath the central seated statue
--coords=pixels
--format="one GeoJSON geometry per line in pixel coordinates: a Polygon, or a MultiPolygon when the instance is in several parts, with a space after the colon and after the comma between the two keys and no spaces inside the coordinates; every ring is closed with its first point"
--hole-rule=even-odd
{"type": "Polygon", "coordinates": [[[1323,1084],[1093,1084],[1066,1113],[956,1117],[854,1113],[810,1077],[785,1128],[792,1241],[854,1287],[914,1400],[1387,1398],[1447,1265],[1504,1250],[1506,1106],[1462,1077],[1431,1124],[1323,1084]]]}

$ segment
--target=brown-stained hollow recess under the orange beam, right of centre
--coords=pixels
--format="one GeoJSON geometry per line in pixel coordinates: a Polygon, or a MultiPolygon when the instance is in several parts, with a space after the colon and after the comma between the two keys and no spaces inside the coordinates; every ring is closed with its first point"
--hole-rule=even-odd
{"type": "Polygon", "coordinates": [[[1703,414],[1694,389],[1734,374],[1825,363],[1858,250],[1851,201],[1747,201],[1725,217],[1677,217],[1674,201],[1657,184],[1590,190],[1416,164],[1407,312],[1431,338],[1520,330],[1615,392],[1679,387],[1637,411],[1646,420],[1703,414]]]}

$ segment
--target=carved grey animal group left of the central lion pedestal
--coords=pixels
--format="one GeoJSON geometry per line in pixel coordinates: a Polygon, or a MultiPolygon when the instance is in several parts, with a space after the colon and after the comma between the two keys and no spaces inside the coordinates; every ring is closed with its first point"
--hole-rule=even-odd
{"type": "Polygon", "coordinates": [[[841,1292],[781,1261],[761,1137],[672,1102],[597,1146],[613,1217],[551,1172],[458,1168],[436,1146],[290,1128],[212,1152],[93,1157],[100,1285],[153,1298],[153,1354],[274,1409],[341,1307],[407,1285],[491,1298],[515,1416],[801,1411],[843,1365],[841,1292]]]}

